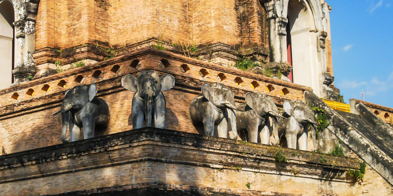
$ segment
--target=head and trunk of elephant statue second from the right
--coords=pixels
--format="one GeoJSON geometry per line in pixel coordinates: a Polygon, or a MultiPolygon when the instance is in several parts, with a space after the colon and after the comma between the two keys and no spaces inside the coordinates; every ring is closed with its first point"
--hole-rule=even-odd
{"type": "Polygon", "coordinates": [[[246,93],[246,103],[260,118],[271,117],[274,120],[272,122],[273,135],[276,140],[276,144],[279,143],[278,118],[286,118],[279,114],[279,109],[277,108],[273,98],[260,92],[246,93]]]}

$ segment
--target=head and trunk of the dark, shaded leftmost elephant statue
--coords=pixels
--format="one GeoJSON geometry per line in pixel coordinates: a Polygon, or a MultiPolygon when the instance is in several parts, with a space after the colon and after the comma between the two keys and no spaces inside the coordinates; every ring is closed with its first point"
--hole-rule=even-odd
{"type": "Polygon", "coordinates": [[[61,105],[61,109],[54,115],[61,112],[62,131],[61,141],[64,143],[69,141],[65,135],[67,133],[67,126],[70,127],[70,132],[74,126],[75,114],[82,111],[87,103],[90,103],[97,94],[97,86],[95,84],[74,86],[65,92],[65,96],[61,105]]]}

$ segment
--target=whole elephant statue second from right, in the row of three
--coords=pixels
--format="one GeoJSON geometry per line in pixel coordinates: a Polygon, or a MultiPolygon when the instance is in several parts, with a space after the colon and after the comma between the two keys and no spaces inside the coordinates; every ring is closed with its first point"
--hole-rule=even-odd
{"type": "Polygon", "coordinates": [[[261,144],[268,145],[272,135],[276,139],[274,145],[280,142],[278,118],[286,118],[279,114],[273,98],[260,92],[246,93],[246,102],[239,104],[237,109],[237,130],[247,130],[249,142],[258,143],[259,139],[261,144]],[[270,127],[270,119],[273,120],[273,128],[270,127]]]}

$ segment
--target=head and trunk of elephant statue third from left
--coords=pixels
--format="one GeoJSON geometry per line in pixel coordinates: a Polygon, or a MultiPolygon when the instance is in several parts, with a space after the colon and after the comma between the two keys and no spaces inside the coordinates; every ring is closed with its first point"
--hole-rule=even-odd
{"type": "Polygon", "coordinates": [[[233,93],[233,91],[226,87],[224,84],[218,82],[214,82],[211,84],[203,84],[201,91],[203,97],[209,100],[209,102],[211,102],[216,109],[224,111],[227,114],[225,118],[227,124],[230,124],[233,133],[233,136],[230,136],[230,138],[237,138],[235,112],[237,108],[235,103],[235,94],[233,93]]]}

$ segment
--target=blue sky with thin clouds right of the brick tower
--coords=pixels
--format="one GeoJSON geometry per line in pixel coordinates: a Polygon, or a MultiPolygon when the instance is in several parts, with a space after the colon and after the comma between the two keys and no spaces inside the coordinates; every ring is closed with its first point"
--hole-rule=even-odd
{"type": "Polygon", "coordinates": [[[326,0],[335,86],[350,98],[393,107],[393,0],[326,0]]]}

